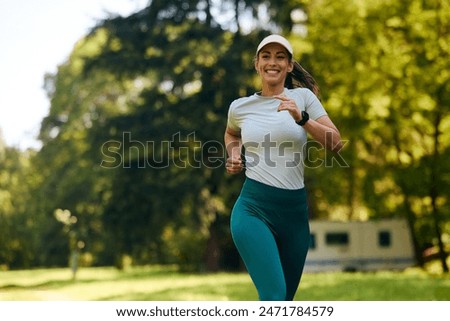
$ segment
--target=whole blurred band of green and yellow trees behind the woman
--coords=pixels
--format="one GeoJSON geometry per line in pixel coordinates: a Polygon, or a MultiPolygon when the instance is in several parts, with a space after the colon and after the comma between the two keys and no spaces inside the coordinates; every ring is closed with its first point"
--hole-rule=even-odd
{"type": "Polygon", "coordinates": [[[449,6],[153,0],[100,22],[46,76],[42,148],[0,143],[0,265],[67,265],[76,235],[84,265],[238,269],[228,219],[243,175],[225,174],[223,131],[229,104],[259,90],[255,48],[276,32],[347,141],[311,151],[325,159],[306,171],[311,217],[405,217],[418,264],[436,245],[448,271],[449,6]]]}

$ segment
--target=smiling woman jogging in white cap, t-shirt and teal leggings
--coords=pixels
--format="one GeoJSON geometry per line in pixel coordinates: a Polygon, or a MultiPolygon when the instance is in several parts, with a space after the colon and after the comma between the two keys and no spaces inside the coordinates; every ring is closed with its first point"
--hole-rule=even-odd
{"type": "Polygon", "coordinates": [[[264,38],[255,69],[262,90],[228,112],[226,170],[246,180],[231,214],[231,234],[260,300],[293,300],[309,248],[303,148],[307,133],[325,148],[342,147],[317,98],[314,79],[293,60],[280,35],[264,38]],[[287,88],[285,88],[287,87],[287,88]]]}

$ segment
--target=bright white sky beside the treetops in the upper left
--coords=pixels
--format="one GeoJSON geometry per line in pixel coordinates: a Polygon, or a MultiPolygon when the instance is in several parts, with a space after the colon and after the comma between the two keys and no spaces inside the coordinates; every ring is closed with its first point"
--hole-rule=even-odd
{"type": "Polygon", "coordinates": [[[44,75],[109,13],[127,16],[148,0],[1,0],[0,132],[8,146],[38,149],[50,102],[44,75]]]}

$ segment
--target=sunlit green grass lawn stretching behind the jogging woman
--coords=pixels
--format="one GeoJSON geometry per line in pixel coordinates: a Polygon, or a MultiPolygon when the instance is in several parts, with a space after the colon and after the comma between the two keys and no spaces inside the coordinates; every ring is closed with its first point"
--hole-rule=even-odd
{"type": "MultiPolygon", "coordinates": [[[[183,274],[174,267],[81,268],[0,272],[5,301],[252,301],[247,273],[183,274]]],[[[403,272],[304,274],[296,300],[450,300],[450,276],[418,269],[403,272]]]]}

